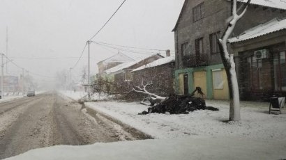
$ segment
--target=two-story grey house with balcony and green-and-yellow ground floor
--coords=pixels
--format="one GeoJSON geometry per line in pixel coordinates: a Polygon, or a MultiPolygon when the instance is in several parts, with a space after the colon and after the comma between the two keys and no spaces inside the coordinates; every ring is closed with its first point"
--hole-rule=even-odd
{"type": "MultiPolygon", "coordinates": [[[[241,5],[245,3],[239,1],[241,5]]],[[[253,0],[246,14],[236,24],[232,37],[243,31],[285,17],[285,2],[253,0]],[[274,5],[273,5],[274,3],[274,5]]],[[[228,99],[227,77],[223,67],[218,37],[226,29],[231,15],[227,0],[186,0],[174,27],[176,49],[175,92],[191,93],[200,86],[208,99],[228,99]]]]}

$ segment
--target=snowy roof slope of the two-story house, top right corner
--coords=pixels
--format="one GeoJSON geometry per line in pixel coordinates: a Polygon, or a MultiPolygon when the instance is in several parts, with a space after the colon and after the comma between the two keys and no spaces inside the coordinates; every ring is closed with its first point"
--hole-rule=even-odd
{"type": "MultiPolygon", "coordinates": [[[[244,2],[244,3],[247,2],[247,0],[238,0],[238,1],[244,2]]],[[[256,4],[259,6],[266,6],[266,7],[286,10],[286,0],[251,0],[250,3],[256,4]]]]}

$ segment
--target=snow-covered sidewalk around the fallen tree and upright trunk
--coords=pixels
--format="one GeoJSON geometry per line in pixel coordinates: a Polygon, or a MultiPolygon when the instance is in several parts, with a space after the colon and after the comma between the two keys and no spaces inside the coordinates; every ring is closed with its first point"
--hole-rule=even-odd
{"type": "MultiPolygon", "coordinates": [[[[73,98],[76,99],[75,96],[73,98]]],[[[89,102],[85,105],[153,138],[235,136],[286,141],[285,109],[280,115],[269,114],[269,103],[265,102],[241,102],[239,122],[226,122],[229,118],[229,104],[218,100],[207,99],[206,106],[214,106],[220,111],[200,110],[181,115],[138,115],[149,107],[139,102],[89,102]]]]}

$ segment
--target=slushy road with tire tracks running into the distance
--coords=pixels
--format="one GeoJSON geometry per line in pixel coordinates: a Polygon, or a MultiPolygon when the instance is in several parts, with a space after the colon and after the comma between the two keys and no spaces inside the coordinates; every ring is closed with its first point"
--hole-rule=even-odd
{"type": "Polygon", "coordinates": [[[0,103],[0,159],[52,145],[147,138],[56,93],[0,103]]]}

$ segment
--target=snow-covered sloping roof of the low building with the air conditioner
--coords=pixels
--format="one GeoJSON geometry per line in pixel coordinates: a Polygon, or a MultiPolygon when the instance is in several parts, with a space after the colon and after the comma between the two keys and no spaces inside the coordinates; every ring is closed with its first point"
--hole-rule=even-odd
{"type": "Polygon", "coordinates": [[[244,31],[241,35],[237,37],[229,38],[228,42],[230,43],[241,42],[243,40],[257,38],[259,36],[280,31],[283,29],[286,29],[286,19],[275,18],[269,22],[255,26],[252,29],[248,29],[247,31],[244,31]]]}

